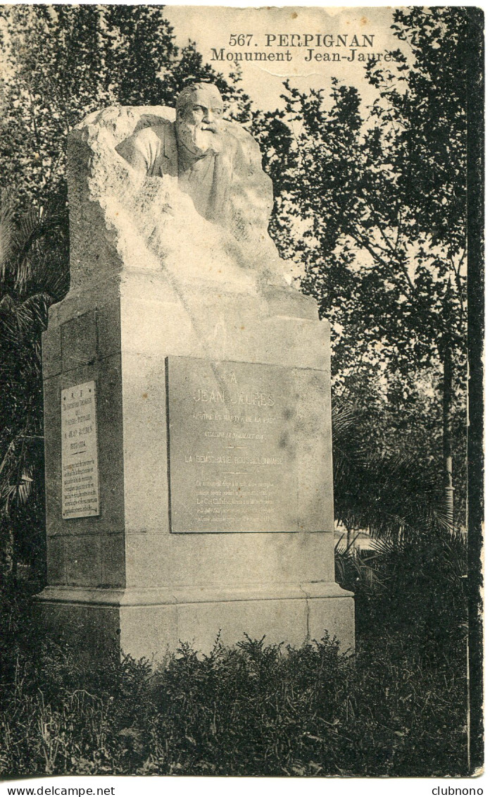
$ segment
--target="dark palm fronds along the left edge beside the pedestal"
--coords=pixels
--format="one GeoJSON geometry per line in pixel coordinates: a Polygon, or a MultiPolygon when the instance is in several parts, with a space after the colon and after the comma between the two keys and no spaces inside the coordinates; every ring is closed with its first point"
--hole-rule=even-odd
{"type": "Polygon", "coordinates": [[[0,197],[0,569],[21,559],[43,567],[44,450],[41,332],[68,288],[64,211],[32,208],[19,218],[0,197]]]}

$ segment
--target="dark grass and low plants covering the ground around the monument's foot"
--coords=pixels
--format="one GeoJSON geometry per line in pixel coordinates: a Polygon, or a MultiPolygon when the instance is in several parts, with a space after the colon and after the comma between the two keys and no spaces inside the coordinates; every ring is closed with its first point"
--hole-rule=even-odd
{"type": "Polygon", "coordinates": [[[181,646],[156,672],[126,658],[88,673],[36,637],[25,591],[4,591],[0,772],[466,775],[465,595],[439,553],[428,580],[420,550],[399,551],[398,583],[390,556],[368,579],[344,556],[351,658],[327,636],[298,650],[244,637],[203,659],[181,646]],[[402,581],[408,602],[393,600],[402,581]]]}

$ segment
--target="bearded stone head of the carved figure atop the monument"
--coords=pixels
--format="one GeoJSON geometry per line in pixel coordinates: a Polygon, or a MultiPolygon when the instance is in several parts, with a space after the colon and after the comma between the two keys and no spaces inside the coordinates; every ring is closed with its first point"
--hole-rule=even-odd
{"type": "Polygon", "coordinates": [[[218,155],[222,147],[223,103],[217,90],[200,88],[177,114],[178,141],[194,155],[218,155]]]}

